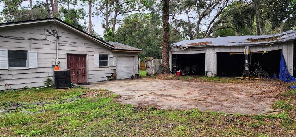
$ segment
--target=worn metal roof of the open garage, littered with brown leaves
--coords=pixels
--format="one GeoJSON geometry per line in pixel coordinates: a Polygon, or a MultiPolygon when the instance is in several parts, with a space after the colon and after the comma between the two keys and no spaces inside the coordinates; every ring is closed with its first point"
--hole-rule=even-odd
{"type": "Polygon", "coordinates": [[[256,46],[274,44],[285,41],[295,41],[296,31],[286,31],[281,34],[262,36],[229,36],[208,39],[193,39],[171,44],[171,47],[201,47],[201,46],[256,46]]]}

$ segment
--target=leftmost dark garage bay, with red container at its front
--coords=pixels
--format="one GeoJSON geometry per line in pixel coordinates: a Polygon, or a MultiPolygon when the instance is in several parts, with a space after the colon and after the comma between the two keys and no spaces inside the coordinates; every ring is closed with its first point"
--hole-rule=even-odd
{"type": "Polygon", "coordinates": [[[205,54],[172,54],[172,71],[184,75],[205,75],[205,54]]]}

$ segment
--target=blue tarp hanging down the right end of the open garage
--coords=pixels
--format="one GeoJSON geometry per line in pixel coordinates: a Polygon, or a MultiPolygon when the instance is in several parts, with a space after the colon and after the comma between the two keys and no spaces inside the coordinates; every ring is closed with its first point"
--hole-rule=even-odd
{"type": "Polygon", "coordinates": [[[296,81],[296,79],[289,74],[283,53],[281,53],[281,63],[279,64],[279,79],[285,82],[296,81]]]}

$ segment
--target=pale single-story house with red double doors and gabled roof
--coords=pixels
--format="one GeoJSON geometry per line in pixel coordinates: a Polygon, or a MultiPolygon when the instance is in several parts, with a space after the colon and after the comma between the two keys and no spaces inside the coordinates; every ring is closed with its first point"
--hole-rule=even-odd
{"type": "Polygon", "coordinates": [[[71,82],[131,78],[137,49],[100,40],[57,18],[0,24],[0,90],[44,86],[54,66],[70,69],[71,82]]]}

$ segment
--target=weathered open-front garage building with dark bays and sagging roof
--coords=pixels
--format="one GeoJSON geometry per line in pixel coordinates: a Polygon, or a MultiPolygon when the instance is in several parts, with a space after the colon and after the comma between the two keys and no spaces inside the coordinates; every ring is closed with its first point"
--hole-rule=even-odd
{"type": "Polygon", "coordinates": [[[249,46],[251,71],[259,66],[279,74],[281,53],[295,76],[296,31],[264,36],[229,36],[180,41],[170,45],[170,70],[189,70],[205,76],[242,76],[244,47],[249,46]]]}

